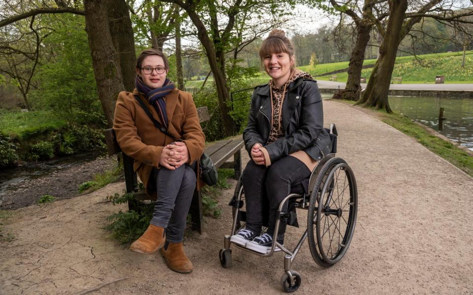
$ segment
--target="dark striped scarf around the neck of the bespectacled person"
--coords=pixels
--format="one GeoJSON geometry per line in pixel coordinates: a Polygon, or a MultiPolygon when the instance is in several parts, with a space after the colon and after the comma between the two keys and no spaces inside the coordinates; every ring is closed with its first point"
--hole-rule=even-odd
{"type": "Polygon", "coordinates": [[[166,79],[161,88],[149,88],[144,84],[143,79],[136,75],[135,87],[139,93],[146,97],[146,100],[152,105],[156,112],[158,112],[159,118],[163,122],[166,129],[168,129],[168,115],[166,114],[166,101],[165,96],[174,90],[174,83],[166,79]]]}

